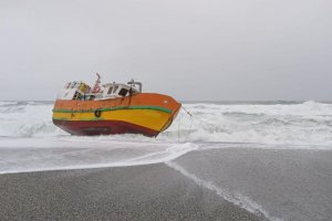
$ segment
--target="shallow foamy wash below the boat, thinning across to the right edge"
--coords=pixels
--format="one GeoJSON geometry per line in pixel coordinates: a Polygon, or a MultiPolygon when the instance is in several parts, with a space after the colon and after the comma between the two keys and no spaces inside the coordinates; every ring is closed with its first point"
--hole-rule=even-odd
{"type": "Polygon", "coordinates": [[[170,161],[193,150],[216,148],[331,149],[308,145],[177,143],[129,135],[0,137],[0,173],[149,165],[170,161]]]}

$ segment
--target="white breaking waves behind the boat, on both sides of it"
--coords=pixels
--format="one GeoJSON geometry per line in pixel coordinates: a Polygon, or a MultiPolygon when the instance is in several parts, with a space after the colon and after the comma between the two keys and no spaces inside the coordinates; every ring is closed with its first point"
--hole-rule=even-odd
{"type": "MultiPolygon", "coordinates": [[[[331,145],[332,104],[184,104],[193,117],[180,112],[157,140],[226,141],[259,144],[331,145]]],[[[68,134],[52,124],[52,103],[0,102],[1,137],[61,137],[68,134]]],[[[138,135],[113,136],[116,139],[138,135]]]]}

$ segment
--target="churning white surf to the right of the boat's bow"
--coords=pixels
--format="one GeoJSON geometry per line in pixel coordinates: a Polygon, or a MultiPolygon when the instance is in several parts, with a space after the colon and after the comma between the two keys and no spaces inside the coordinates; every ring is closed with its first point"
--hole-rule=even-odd
{"type": "Polygon", "coordinates": [[[180,134],[190,141],[332,145],[331,104],[185,106],[193,119],[183,115],[180,125],[175,120],[160,137],[180,134]]]}

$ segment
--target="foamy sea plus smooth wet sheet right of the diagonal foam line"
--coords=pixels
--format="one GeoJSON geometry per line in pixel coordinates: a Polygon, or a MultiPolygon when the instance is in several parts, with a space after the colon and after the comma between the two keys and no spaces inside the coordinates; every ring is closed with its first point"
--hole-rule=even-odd
{"type": "Polygon", "coordinates": [[[156,138],[81,137],[52,124],[52,102],[0,102],[0,177],[163,164],[261,219],[331,220],[332,103],[183,106],[156,138]]]}

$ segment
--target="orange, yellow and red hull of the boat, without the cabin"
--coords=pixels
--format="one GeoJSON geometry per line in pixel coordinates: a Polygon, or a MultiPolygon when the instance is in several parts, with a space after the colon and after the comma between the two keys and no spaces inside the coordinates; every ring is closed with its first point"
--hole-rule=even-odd
{"type": "Polygon", "coordinates": [[[105,101],[56,101],[53,123],[72,135],[143,134],[167,129],[180,108],[169,96],[142,93],[105,101]]]}

